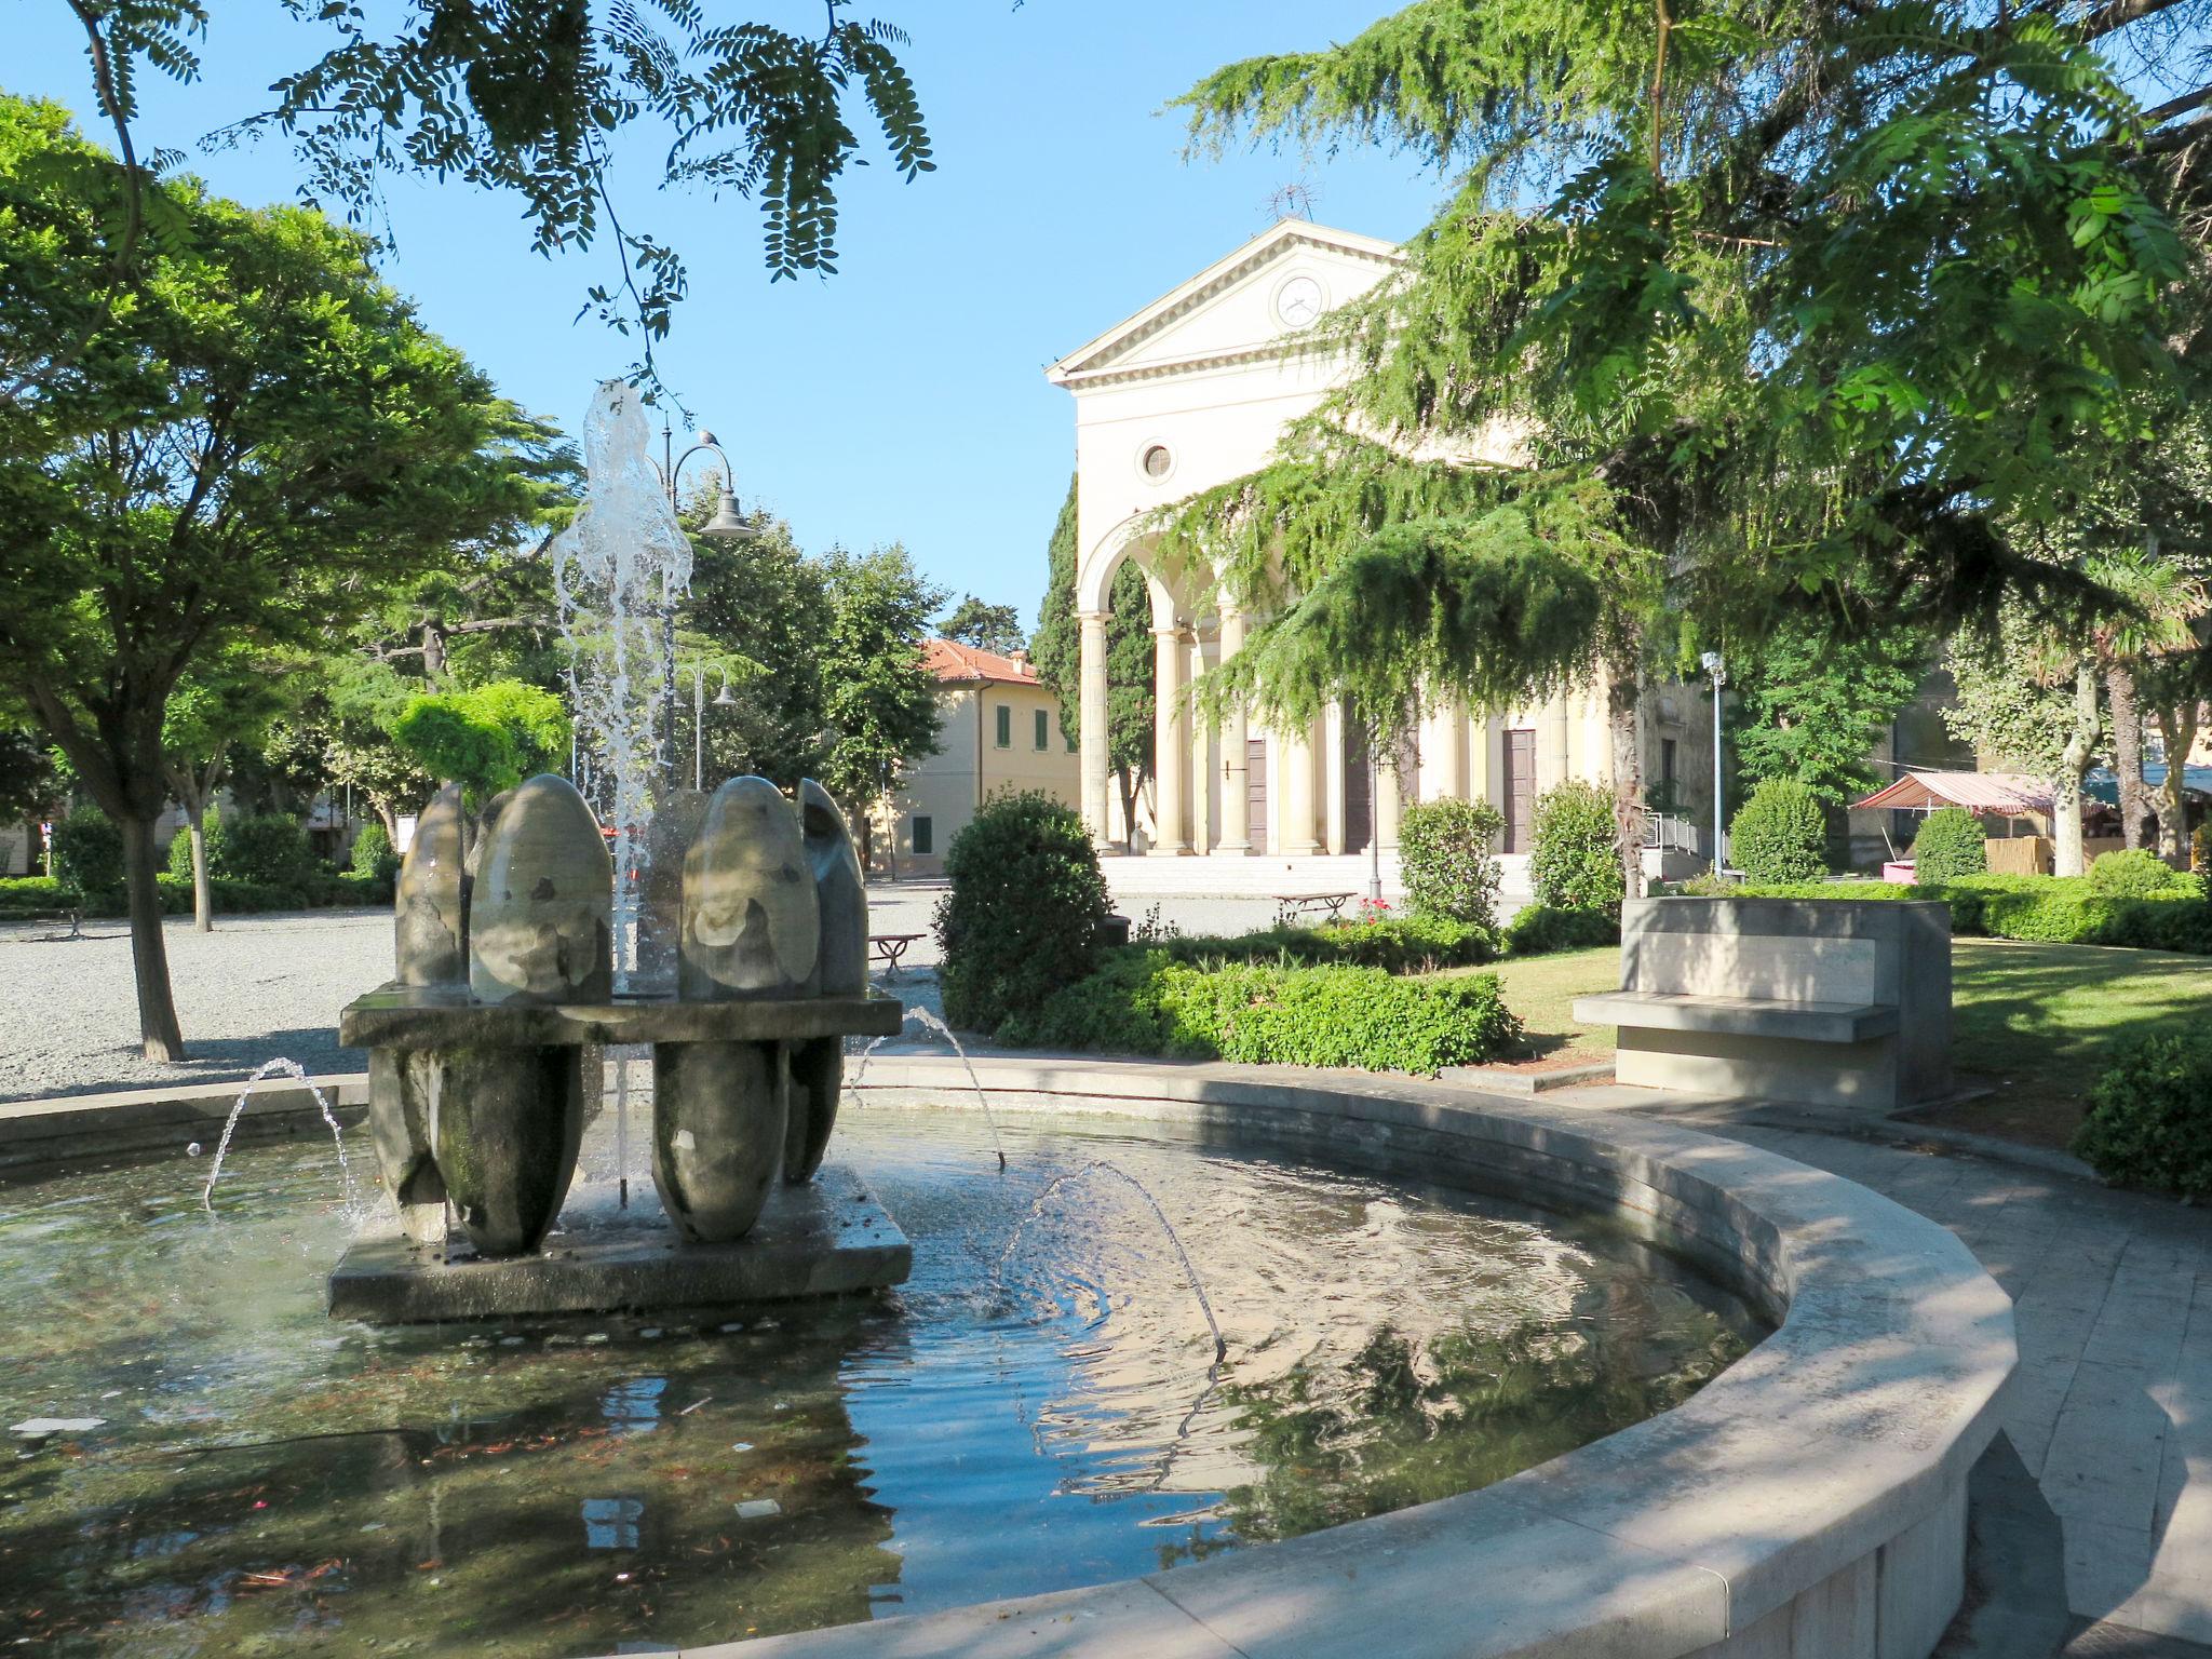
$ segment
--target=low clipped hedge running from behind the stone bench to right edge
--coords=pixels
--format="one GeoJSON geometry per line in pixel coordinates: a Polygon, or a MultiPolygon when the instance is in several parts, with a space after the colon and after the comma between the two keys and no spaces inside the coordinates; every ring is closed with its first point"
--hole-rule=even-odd
{"type": "Polygon", "coordinates": [[[1882,880],[1743,883],[1730,896],[1938,898],[1951,907],[1953,933],[2212,956],[2212,902],[2205,900],[2203,876],[2174,874],[2172,889],[2146,898],[2104,898],[2086,876],[1960,876],[1918,887],[1882,880]]]}

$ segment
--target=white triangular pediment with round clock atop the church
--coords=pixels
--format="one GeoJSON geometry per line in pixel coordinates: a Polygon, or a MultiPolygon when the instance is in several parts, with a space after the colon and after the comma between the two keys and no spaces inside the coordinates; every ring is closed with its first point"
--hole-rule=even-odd
{"type": "Polygon", "coordinates": [[[1325,312],[1365,294],[1400,259],[1398,246],[1378,237],[1283,219],[1068,352],[1046,378],[1077,387],[1279,352],[1316,303],[1325,312]]]}

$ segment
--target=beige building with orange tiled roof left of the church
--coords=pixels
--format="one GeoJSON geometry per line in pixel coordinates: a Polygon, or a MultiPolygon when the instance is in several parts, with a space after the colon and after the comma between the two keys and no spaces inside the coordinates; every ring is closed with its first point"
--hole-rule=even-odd
{"type": "Polygon", "coordinates": [[[1002,790],[1044,790],[1075,805],[1075,739],[1060,728],[1060,699],[1024,653],[1000,657],[951,639],[929,641],[938,677],[938,752],[916,761],[889,805],[876,807],[876,865],[891,874],[936,876],[945,849],[1002,790]]]}

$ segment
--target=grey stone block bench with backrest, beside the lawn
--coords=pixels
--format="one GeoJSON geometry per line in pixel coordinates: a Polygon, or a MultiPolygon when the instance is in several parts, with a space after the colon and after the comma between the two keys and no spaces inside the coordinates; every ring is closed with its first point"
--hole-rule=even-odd
{"type": "Polygon", "coordinates": [[[1951,911],[1851,898],[1639,898],[1621,989],[1575,1000],[1619,1026],[1644,1088],[1885,1110],[1951,1093],[1951,911]]]}

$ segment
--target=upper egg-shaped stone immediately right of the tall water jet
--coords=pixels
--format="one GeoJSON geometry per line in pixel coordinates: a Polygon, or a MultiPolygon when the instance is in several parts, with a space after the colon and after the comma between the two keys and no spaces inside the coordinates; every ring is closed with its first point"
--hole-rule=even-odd
{"type": "Polygon", "coordinates": [[[799,995],[821,951],[821,900],[799,814],[768,779],[730,779],[684,858],[677,987],[697,1002],[799,995]]]}

